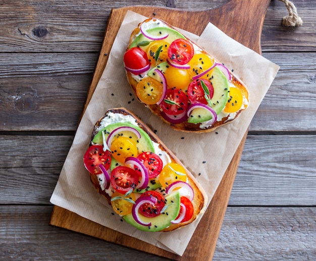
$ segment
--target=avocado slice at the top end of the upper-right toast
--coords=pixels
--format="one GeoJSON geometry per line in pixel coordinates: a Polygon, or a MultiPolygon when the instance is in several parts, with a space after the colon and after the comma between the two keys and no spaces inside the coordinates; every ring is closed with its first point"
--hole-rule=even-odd
{"type": "MultiPolygon", "coordinates": [[[[185,38],[181,33],[179,33],[177,30],[169,28],[169,27],[154,27],[154,28],[150,28],[147,30],[148,34],[154,35],[154,36],[159,36],[165,33],[168,33],[168,37],[164,39],[164,41],[168,42],[168,43],[172,43],[174,40],[179,39],[179,38],[185,38]]],[[[129,48],[132,47],[140,47],[144,50],[147,49],[147,45],[146,43],[151,42],[152,40],[145,37],[142,33],[139,34],[134,41],[131,43],[129,48]]]]}

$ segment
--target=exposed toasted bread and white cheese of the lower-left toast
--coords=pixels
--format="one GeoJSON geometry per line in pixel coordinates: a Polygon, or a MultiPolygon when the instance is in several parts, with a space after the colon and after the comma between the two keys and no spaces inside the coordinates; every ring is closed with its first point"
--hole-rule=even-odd
{"type": "MultiPolygon", "coordinates": [[[[103,129],[107,125],[107,123],[104,119],[107,119],[110,117],[112,119],[111,120],[112,123],[113,122],[130,122],[129,120],[134,121],[138,127],[140,127],[142,130],[144,130],[144,132],[148,135],[150,140],[156,144],[155,148],[159,148],[159,149],[155,149],[155,150],[160,150],[160,154],[161,154],[161,152],[164,152],[165,154],[167,154],[168,157],[170,158],[169,162],[177,163],[177,164],[183,166],[183,164],[180,162],[180,160],[167,148],[167,146],[135,114],[133,114],[131,111],[128,111],[125,108],[110,109],[106,112],[106,114],[102,118],[100,118],[96,122],[96,124],[94,125],[94,128],[93,128],[90,146],[98,144],[98,143],[93,142],[94,138],[100,132],[100,130],[103,129]],[[116,116],[118,116],[117,120],[113,120],[113,118],[115,118],[116,116]],[[128,120],[126,118],[128,118],[128,120]]],[[[192,200],[192,204],[193,204],[193,208],[194,208],[193,216],[190,220],[183,222],[183,223],[178,223],[178,224],[170,223],[167,227],[165,227],[164,229],[162,229],[160,231],[172,231],[172,230],[175,230],[177,228],[188,225],[188,224],[192,223],[194,220],[196,220],[198,215],[202,214],[206,208],[207,195],[206,195],[205,191],[203,190],[201,185],[197,182],[197,180],[192,175],[192,173],[190,171],[188,171],[186,168],[185,168],[185,171],[187,174],[186,182],[189,183],[189,185],[192,187],[193,192],[194,192],[194,198],[192,200]]],[[[93,183],[93,185],[95,186],[95,188],[97,189],[97,191],[108,200],[109,204],[111,204],[112,193],[115,191],[115,189],[112,187],[112,185],[108,189],[104,189],[104,187],[102,188],[102,186],[99,183],[97,175],[94,175],[92,173],[90,173],[90,179],[91,179],[91,182],[93,183]]],[[[160,189],[160,190],[156,189],[156,191],[160,191],[160,193],[164,194],[164,197],[166,197],[164,189],[160,189]]],[[[136,197],[139,197],[139,194],[136,194],[136,197]]],[[[124,219],[124,216],[123,216],[123,219],[124,219]]],[[[146,228],[144,228],[142,230],[147,231],[146,228]]]]}

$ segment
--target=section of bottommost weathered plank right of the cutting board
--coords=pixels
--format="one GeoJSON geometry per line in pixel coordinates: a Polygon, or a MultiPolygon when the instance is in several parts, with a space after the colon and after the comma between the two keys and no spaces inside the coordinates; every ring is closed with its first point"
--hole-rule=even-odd
{"type": "Polygon", "coordinates": [[[228,208],[214,260],[315,260],[316,208],[228,208]]]}

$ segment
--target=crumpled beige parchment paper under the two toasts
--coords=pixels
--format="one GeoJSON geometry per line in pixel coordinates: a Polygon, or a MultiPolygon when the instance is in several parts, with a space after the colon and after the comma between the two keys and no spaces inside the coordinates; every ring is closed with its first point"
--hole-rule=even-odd
{"type": "Polygon", "coordinates": [[[157,136],[195,175],[210,201],[279,67],[231,39],[212,24],[207,25],[200,37],[181,30],[234,70],[234,74],[249,89],[250,105],[235,121],[218,128],[217,133],[177,132],[135,99],[126,80],[123,54],[131,32],[144,19],[136,13],[127,13],[113,43],[107,67],[78,126],[50,202],[103,226],[182,255],[200,218],[180,230],[152,233],[139,231],[122,222],[118,215],[112,215],[83,166],[83,154],[88,147],[93,125],[108,109],[125,107],[133,111],[152,130],[156,130],[157,136]]]}

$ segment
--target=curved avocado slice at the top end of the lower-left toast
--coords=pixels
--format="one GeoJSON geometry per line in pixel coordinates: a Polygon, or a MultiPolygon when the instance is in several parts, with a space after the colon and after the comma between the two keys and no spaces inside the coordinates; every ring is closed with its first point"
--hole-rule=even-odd
{"type": "MultiPolygon", "coordinates": [[[[105,139],[107,139],[109,134],[113,132],[113,130],[115,130],[118,127],[123,127],[123,126],[132,127],[140,133],[141,137],[140,139],[138,139],[135,134],[131,132],[126,132],[128,133],[129,137],[131,137],[131,139],[137,144],[139,153],[145,152],[145,151],[150,151],[153,153],[155,152],[152,141],[150,137],[148,136],[148,134],[142,128],[129,122],[116,122],[116,123],[109,124],[108,126],[99,130],[99,132],[94,136],[92,142],[95,144],[103,145],[103,138],[102,138],[103,130],[104,130],[105,139]]],[[[125,132],[122,132],[122,134],[124,133],[125,132]]]]}

